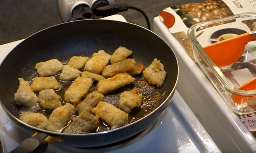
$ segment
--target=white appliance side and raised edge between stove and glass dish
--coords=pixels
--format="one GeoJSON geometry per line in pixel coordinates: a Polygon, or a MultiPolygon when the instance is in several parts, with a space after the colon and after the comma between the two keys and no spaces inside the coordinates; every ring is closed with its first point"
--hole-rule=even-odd
{"type": "Polygon", "coordinates": [[[154,18],[154,30],[174,50],[180,66],[177,91],[223,152],[255,152],[256,139],[240,118],[231,111],[203,71],[190,58],[182,44],[154,18]]]}

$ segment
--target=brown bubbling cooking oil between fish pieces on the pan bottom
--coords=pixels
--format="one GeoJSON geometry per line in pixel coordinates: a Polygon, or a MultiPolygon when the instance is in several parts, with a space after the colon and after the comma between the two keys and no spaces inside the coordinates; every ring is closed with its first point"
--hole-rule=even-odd
{"type": "MultiPolygon", "coordinates": [[[[61,81],[61,80],[59,80],[59,74],[57,74],[53,77],[56,78],[56,80],[58,81],[58,83],[60,85],[60,88],[55,91],[56,91],[57,95],[62,97],[61,103],[62,103],[62,105],[64,105],[66,103],[65,101],[63,101],[65,91],[69,88],[69,86],[72,84],[73,81],[61,81]]],[[[106,94],[106,95],[104,95],[104,98],[103,98],[103,101],[111,103],[114,106],[117,106],[117,102],[119,102],[119,99],[120,99],[120,93],[127,91],[127,90],[132,90],[134,87],[136,87],[137,89],[140,90],[141,94],[143,95],[142,106],[140,108],[134,108],[132,110],[132,112],[129,114],[127,124],[135,122],[135,121],[145,117],[146,115],[150,114],[166,98],[166,91],[161,91],[160,88],[157,88],[156,86],[148,84],[142,74],[134,75],[133,77],[135,78],[135,81],[132,84],[126,85],[125,87],[119,88],[116,91],[106,94]]],[[[32,82],[32,79],[31,79],[30,83],[31,82],[32,82]]],[[[93,83],[93,86],[88,91],[88,93],[97,90],[96,84],[97,84],[97,82],[93,83]]],[[[35,94],[37,94],[37,96],[38,96],[39,92],[35,92],[35,94]]],[[[84,98],[82,98],[82,100],[83,99],[84,98]]],[[[51,109],[44,110],[40,107],[39,104],[37,104],[33,107],[25,107],[25,106],[18,106],[18,107],[22,107],[20,109],[20,115],[22,115],[22,112],[30,111],[30,112],[42,113],[47,118],[49,118],[50,114],[53,111],[51,109]]],[[[78,115],[77,113],[73,114],[73,116],[75,116],[75,117],[77,117],[77,115],[78,115]]],[[[103,132],[103,131],[110,130],[110,127],[108,126],[108,124],[106,124],[101,119],[99,119],[99,121],[100,122],[98,124],[98,128],[94,132],[103,132]]],[[[70,120],[69,123],[64,128],[62,128],[60,130],[60,132],[63,132],[63,130],[65,130],[65,128],[71,122],[72,122],[72,120],[70,120]]]]}

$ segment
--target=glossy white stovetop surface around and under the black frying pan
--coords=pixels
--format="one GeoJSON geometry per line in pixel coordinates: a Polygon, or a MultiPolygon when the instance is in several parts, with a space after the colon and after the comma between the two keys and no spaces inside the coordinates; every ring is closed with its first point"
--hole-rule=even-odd
{"type": "MultiPolygon", "coordinates": [[[[115,20],[124,18],[113,16],[115,20]]],[[[108,19],[111,19],[108,18],[108,19]]],[[[22,40],[0,45],[0,62],[22,40]]],[[[22,140],[30,135],[19,129],[0,106],[0,137],[3,140],[4,153],[12,151],[22,140]]],[[[152,130],[144,137],[124,147],[82,149],[68,148],[49,144],[47,152],[111,152],[111,153],[218,153],[221,152],[201,123],[197,120],[180,94],[175,91],[173,99],[159,117],[152,130]]]]}

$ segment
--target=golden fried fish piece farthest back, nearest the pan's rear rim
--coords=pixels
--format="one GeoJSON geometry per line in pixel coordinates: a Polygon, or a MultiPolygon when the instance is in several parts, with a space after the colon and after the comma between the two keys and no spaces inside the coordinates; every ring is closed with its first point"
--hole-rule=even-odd
{"type": "Polygon", "coordinates": [[[111,56],[110,63],[113,64],[113,63],[117,63],[117,62],[123,61],[128,56],[130,56],[131,54],[132,54],[131,50],[129,50],[129,49],[125,48],[125,47],[119,46],[115,50],[113,55],[111,56]]]}

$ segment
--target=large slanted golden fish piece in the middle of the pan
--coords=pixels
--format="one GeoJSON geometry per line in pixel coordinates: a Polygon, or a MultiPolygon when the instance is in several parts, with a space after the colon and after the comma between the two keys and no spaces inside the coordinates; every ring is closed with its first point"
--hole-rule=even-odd
{"type": "Polygon", "coordinates": [[[92,85],[93,80],[91,78],[77,77],[68,90],[65,91],[64,100],[74,105],[78,104],[92,85]]]}

